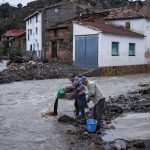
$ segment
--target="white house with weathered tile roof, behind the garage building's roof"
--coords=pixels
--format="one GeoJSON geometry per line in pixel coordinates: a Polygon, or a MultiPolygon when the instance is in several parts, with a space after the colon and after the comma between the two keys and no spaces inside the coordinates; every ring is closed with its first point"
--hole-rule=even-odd
{"type": "Polygon", "coordinates": [[[109,24],[128,28],[131,31],[144,34],[145,50],[150,49],[150,19],[142,14],[126,8],[113,9],[105,21],[109,24]],[[116,15],[114,15],[116,14],[116,15]],[[117,16],[118,14],[118,16],[117,16]]]}

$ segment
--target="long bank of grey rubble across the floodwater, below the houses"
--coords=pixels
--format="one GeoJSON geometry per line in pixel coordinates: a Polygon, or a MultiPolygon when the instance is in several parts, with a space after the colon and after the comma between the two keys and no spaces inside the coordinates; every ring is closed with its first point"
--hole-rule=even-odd
{"type": "Polygon", "coordinates": [[[43,80],[66,78],[70,73],[82,73],[84,70],[69,65],[44,64],[30,61],[14,64],[0,72],[0,84],[24,80],[43,80]]]}

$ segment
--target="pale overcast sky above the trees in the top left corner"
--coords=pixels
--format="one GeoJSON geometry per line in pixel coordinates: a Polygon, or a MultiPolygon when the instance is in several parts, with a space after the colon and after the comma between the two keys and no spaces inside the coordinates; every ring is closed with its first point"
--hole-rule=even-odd
{"type": "Polygon", "coordinates": [[[8,2],[9,4],[12,5],[17,5],[18,3],[21,3],[23,6],[25,6],[28,2],[32,2],[34,0],[0,0],[0,3],[6,3],[8,2]]]}

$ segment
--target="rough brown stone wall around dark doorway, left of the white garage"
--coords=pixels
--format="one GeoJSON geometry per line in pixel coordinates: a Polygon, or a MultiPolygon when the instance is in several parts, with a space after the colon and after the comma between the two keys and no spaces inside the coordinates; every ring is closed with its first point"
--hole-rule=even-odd
{"type": "Polygon", "coordinates": [[[53,60],[71,62],[72,61],[72,31],[69,28],[53,29],[46,33],[47,48],[46,59],[48,62],[53,60]],[[52,42],[57,43],[57,58],[52,58],[52,42]]]}

